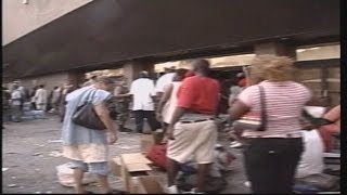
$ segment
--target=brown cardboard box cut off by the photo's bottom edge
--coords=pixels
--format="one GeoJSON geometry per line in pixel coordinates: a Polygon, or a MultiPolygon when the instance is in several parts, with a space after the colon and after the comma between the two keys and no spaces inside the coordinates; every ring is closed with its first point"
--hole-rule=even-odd
{"type": "Polygon", "coordinates": [[[158,182],[159,178],[144,176],[133,178],[131,194],[165,194],[163,186],[158,182]]]}

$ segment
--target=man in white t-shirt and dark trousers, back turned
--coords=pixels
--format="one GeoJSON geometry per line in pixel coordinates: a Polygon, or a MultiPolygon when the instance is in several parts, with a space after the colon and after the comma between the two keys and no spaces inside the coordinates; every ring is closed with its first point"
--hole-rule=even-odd
{"type": "Polygon", "coordinates": [[[147,72],[141,72],[139,79],[132,81],[130,87],[130,94],[132,94],[137,132],[143,132],[143,120],[147,119],[147,122],[152,131],[155,131],[160,127],[159,122],[155,119],[154,113],[154,82],[149,78],[147,72]]]}

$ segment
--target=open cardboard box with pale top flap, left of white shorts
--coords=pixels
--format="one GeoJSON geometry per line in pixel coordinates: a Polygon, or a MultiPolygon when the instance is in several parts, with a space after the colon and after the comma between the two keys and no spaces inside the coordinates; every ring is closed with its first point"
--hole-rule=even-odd
{"type": "Polygon", "coordinates": [[[145,158],[141,153],[120,155],[121,178],[126,192],[136,191],[137,177],[149,176],[152,168],[149,166],[151,160],[145,158]]]}

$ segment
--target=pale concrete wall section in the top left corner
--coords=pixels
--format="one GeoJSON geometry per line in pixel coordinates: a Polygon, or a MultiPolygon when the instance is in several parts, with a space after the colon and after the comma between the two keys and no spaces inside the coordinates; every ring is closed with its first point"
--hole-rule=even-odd
{"type": "Polygon", "coordinates": [[[92,0],[2,0],[2,46],[92,0]]]}

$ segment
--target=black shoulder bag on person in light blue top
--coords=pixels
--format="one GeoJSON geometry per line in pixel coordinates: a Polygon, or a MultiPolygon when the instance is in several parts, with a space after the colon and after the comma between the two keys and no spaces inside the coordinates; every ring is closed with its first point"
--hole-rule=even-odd
{"type": "Polygon", "coordinates": [[[88,129],[105,130],[106,126],[98,116],[94,109],[94,105],[92,104],[92,98],[94,96],[95,92],[92,95],[88,95],[86,102],[82,105],[76,108],[72,119],[74,123],[88,129]],[[89,100],[90,96],[91,99],[89,100]]]}

